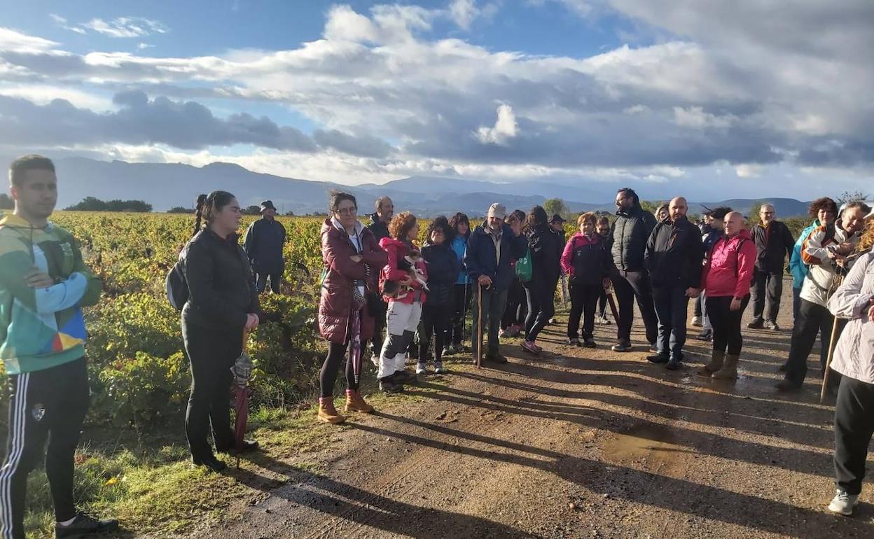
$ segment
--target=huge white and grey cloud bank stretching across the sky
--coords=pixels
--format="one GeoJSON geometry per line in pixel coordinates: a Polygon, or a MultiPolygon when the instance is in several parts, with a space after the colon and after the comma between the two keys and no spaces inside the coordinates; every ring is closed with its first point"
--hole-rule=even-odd
{"type": "MultiPolygon", "coordinates": [[[[0,74],[10,83],[95,95],[142,89],[152,99],[191,100],[207,109],[215,99],[225,110],[228,103],[246,110],[250,101],[288,107],[330,142],[307,154],[310,170],[319,159],[336,164],[337,147],[388,155],[343,157],[343,166],[360,166],[365,175],[434,169],[509,178],[610,169],[635,171],[629,183],[651,175],[673,185],[717,162],[741,172],[765,165],[761,178],[775,162],[869,166],[874,70],[862,51],[871,50],[874,34],[861,21],[871,20],[874,3],[800,1],[777,20],[753,0],[739,2],[732,9],[691,0],[583,3],[593,7],[589,20],[613,9],[614,17],[667,36],[588,57],[493,51],[440,38],[448,23],[454,36],[459,21],[479,20],[470,18],[470,8],[484,17],[495,5],[449,0],[434,10],[382,5],[356,12],[339,5],[315,41],[192,58],[143,49],[80,55],[2,29],[0,74]],[[498,103],[512,107],[496,118],[498,103]],[[357,139],[347,145],[345,135],[357,139]]],[[[47,93],[33,100],[42,103],[47,93]]],[[[70,97],[92,108],[82,105],[83,96],[70,97]]]]}

